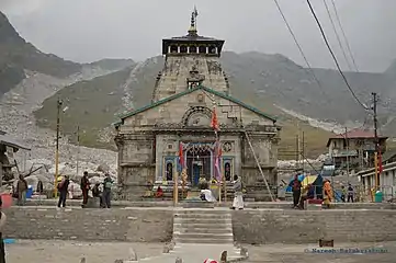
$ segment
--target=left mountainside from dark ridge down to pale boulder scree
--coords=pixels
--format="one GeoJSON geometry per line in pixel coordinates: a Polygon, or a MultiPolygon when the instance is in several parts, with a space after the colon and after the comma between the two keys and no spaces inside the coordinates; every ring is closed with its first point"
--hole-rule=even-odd
{"type": "MultiPolygon", "coordinates": [[[[44,54],[26,43],[0,13],[0,129],[31,148],[31,151],[19,151],[15,155],[22,172],[30,170],[31,165],[46,164],[47,170],[37,171],[35,178],[30,180],[37,180],[38,176],[50,184],[54,176],[54,167],[50,163],[54,163],[55,133],[37,127],[33,111],[39,108],[45,99],[53,96],[64,87],[80,81],[90,82],[95,77],[134,64],[129,59],[103,59],[79,65],[44,54]]],[[[61,168],[66,168],[60,172],[76,170],[78,160],[79,173],[102,164],[110,167],[114,174],[116,153],[113,151],[78,148],[63,136],[59,156],[61,168]]]]}

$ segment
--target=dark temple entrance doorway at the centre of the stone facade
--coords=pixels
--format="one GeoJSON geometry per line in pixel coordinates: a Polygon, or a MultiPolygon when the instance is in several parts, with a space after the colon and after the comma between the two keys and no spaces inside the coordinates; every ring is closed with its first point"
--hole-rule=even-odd
{"type": "Polygon", "coordinates": [[[211,180],[212,150],[204,145],[193,145],[186,150],[188,178],[192,186],[197,186],[200,179],[211,180]]]}

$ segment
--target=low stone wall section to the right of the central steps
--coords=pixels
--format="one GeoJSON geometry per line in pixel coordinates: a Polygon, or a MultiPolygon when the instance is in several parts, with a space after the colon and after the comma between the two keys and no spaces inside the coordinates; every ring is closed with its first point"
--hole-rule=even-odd
{"type": "Polygon", "coordinates": [[[233,214],[240,243],[337,243],[396,240],[396,210],[244,210],[233,214]],[[384,227],[386,226],[386,227],[384,227]]]}

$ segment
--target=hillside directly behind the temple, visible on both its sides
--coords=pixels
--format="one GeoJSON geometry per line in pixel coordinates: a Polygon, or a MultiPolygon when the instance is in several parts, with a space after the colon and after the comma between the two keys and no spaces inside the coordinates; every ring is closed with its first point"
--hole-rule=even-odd
{"type": "MultiPolygon", "coordinates": [[[[330,133],[312,127],[313,122],[302,122],[302,117],[296,117],[301,114],[327,123],[349,122],[359,126],[365,122],[370,125],[367,113],[353,101],[338,71],[314,69],[320,81],[319,88],[307,69],[282,55],[224,53],[222,64],[229,76],[234,96],[280,117],[283,126],[281,152],[283,151],[284,158],[295,158],[286,151],[296,148],[297,123],[305,133],[307,155],[313,157],[325,150],[330,133]],[[291,114],[292,112],[296,114],[291,114]]],[[[69,108],[73,108],[61,116],[65,134],[72,134],[76,124],[79,124],[84,126],[86,145],[112,147],[112,140],[103,142],[110,138],[106,136],[103,139],[103,135],[111,130],[110,124],[116,121],[117,113],[149,103],[155,78],[162,65],[163,58],[156,57],[116,73],[67,87],[46,100],[44,106],[35,112],[38,124],[54,128],[56,99],[65,98],[69,108]],[[101,103],[98,104],[99,101],[101,103]],[[101,113],[99,119],[93,117],[98,112],[101,113]],[[99,140],[101,141],[98,144],[99,140]]],[[[346,72],[346,76],[359,98],[369,105],[372,91],[378,92],[382,98],[393,91],[393,82],[382,73],[346,72]]],[[[392,102],[381,104],[380,118],[384,129],[384,124],[392,119],[389,111],[393,107],[392,102]]],[[[316,126],[323,127],[320,123],[316,126]]],[[[327,125],[327,130],[332,128],[337,127],[327,125]]],[[[389,130],[393,130],[392,125],[389,130]]]]}

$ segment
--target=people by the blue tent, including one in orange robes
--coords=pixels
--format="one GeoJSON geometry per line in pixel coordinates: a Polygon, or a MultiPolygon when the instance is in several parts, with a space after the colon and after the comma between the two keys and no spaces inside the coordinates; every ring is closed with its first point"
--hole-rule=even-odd
{"type": "MultiPolygon", "coordinates": [[[[298,180],[298,174],[294,176],[292,181],[292,192],[293,192],[293,208],[304,209],[304,204],[307,199],[315,198],[315,186],[313,184],[307,184],[303,187],[302,182],[298,180]]],[[[316,197],[323,199],[324,205],[329,208],[333,199],[333,193],[331,183],[329,180],[325,180],[323,185],[323,193],[317,193],[316,197]]]]}

